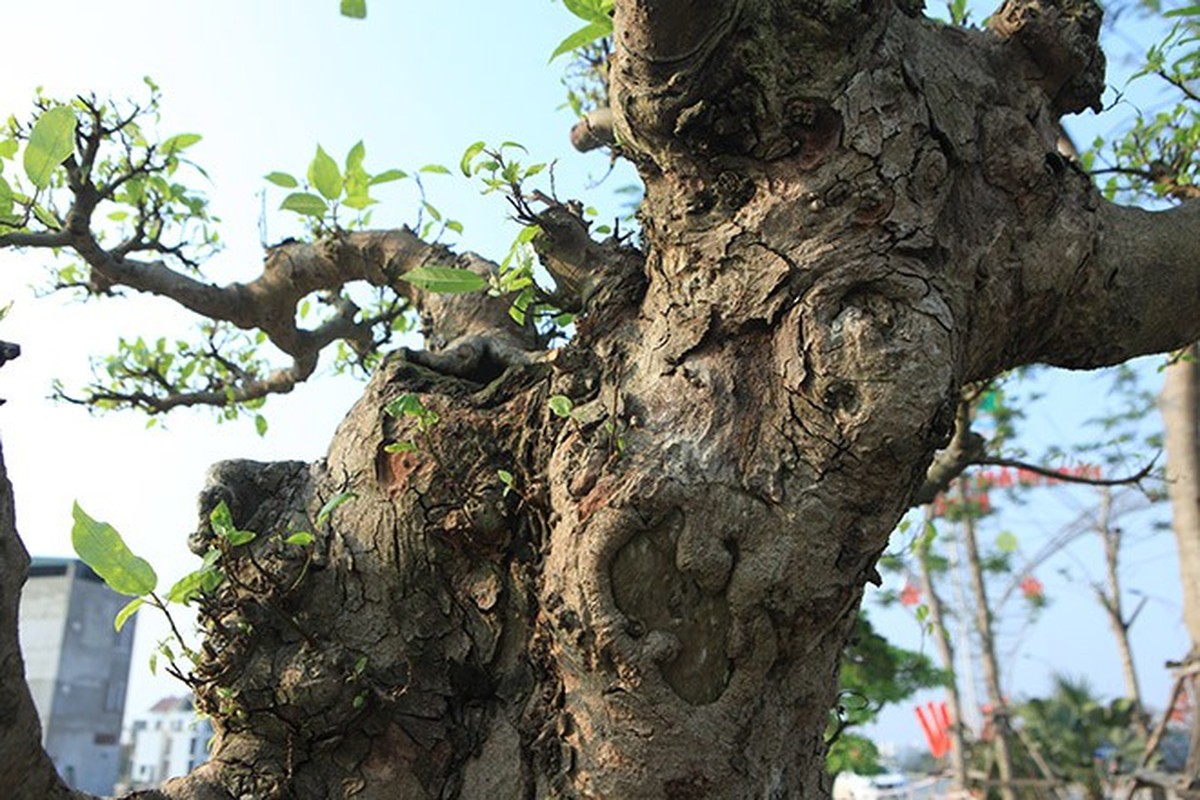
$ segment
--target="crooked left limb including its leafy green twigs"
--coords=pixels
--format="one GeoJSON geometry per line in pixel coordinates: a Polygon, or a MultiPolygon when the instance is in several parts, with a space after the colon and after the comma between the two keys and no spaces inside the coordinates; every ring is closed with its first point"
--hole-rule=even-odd
{"type": "MultiPolygon", "coordinates": [[[[342,366],[350,363],[347,351],[370,366],[394,332],[404,327],[395,325],[396,320],[412,312],[420,314],[434,351],[462,341],[475,342],[473,347],[480,349],[479,341],[494,339],[484,349],[503,367],[541,345],[532,326],[511,321],[505,299],[484,293],[438,296],[406,282],[403,276],[421,266],[460,266],[484,275],[496,270],[491,261],[455,255],[408,228],[346,231],[335,227],[312,242],[288,240],[269,248],[262,271],[251,281],[227,285],[205,281],[199,265],[205,251],[216,245],[208,230],[206,200],[176,174],[188,163],[181,151],[199,137],[181,134],[146,144],[137,124],[152,112],[156,97],[155,92],[149,107],[133,106],[124,113],[95,98],[78,98],[73,151],[48,184],[30,175],[41,188],[29,196],[13,194],[24,215],[4,217],[0,248],[73,251],[83,267],[59,270],[56,288],[82,288],[91,295],[133,289],[187,308],[212,331],[224,325],[260,331],[264,338],[245,339],[236,351],[209,347],[176,354],[185,356],[180,362],[192,359],[188,367],[172,363],[172,354],[161,343],[122,343],[127,362],[109,360],[97,373],[112,380],[103,379],[85,397],[68,399],[102,408],[134,405],[151,413],[180,405],[253,403],[307,379],[320,353],[336,342],[348,345],[340,355],[342,366]],[[109,221],[119,223],[115,231],[109,221]],[[211,247],[196,249],[187,243],[193,239],[211,247]],[[350,300],[347,290],[353,284],[379,293],[371,311],[350,300]],[[316,326],[305,326],[302,308],[312,295],[324,299],[331,311],[316,326]],[[254,356],[266,342],[289,362],[272,367],[254,356]]],[[[43,103],[42,113],[49,108],[43,103]]],[[[29,132],[18,128],[16,136],[29,138],[31,132],[32,127],[29,132]]],[[[224,339],[224,345],[233,347],[229,337],[224,339]]]]}

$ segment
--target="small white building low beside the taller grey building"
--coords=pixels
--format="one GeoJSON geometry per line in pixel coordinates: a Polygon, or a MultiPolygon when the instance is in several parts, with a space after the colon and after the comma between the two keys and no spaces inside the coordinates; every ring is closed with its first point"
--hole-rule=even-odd
{"type": "Polygon", "coordinates": [[[191,697],[167,697],[133,721],[132,733],[127,788],[152,789],[208,759],[212,724],[196,716],[191,697]]]}

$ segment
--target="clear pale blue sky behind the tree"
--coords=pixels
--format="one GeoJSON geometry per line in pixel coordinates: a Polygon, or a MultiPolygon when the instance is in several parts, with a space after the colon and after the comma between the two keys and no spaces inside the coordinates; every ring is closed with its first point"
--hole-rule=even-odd
{"type": "MultiPolygon", "coordinates": [[[[50,96],[143,97],[142,78],[151,76],[164,95],[162,132],[204,136],[191,156],[210,175],[206,191],[224,221],[227,245],[212,264],[214,279],[257,273],[262,176],[276,169],[304,174],[318,143],[341,160],[362,139],[368,169],[412,170],[430,162],[454,168],[476,139],[511,139],[539,161],[560,158],[559,193],[583,196],[601,209],[616,207],[611,190],[628,180],[610,179],[589,191],[607,172],[607,160],[578,156],[569,146],[572,120],[559,108],[560,65],[547,67],[546,61],[576,20],[548,0],[372,0],[366,22],[340,17],[337,0],[7,5],[0,114],[28,114],[38,85],[50,96]]],[[[480,197],[476,186],[457,176],[431,176],[427,190],[436,205],[466,223],[461,246],[503,255],[515,228],[505,222],[500,198],[480,197]]],[[[295,230],[290,215],[272,210],[281,199],[275,190],[265,201],[270,241],[295,230]]],[[[412,222],[410,191],[400,186],[386,199],[377,206],[376,227],[412,222]]],[[[0,408],[0,440],[20,531],[34,554],[70,554],[71,504],[78,500],[94,517],[116,525],[134,552],[158,567],[161,585],[169,585],[194,566],[184,542],[194,528],[194,497],[206,467],[223,458],[319,458],[359,386],[325,378],[271,399],[264,438],[248,420],[217,426],[206,413],[176,413],[166,429],[148,431],[132,414],[92,416],[55,404],[47,399],[52,378],[78,386],[86,379],[89,356],[110,350],[118,336],[169,336],[193,320],[166,301],[34,299],[28,287],[38,282],[47,258],[0,253],[0,300],[14,301],[0,323],[0,338],[19,342],[24,350],[0,371],[0,397],[8,401],[0,408]]],[[[1038,425],[1048,435],[1068,434],[1081,416],[1082,399],[1103,399],[1099,379],[1049,380],[1056,396],[1067,399],[1046,405],[1038,425]]],[[[1040,534],[1054,519],[1070,516],[1048,503],[1031,509],[1028,530],[1040,534]]],[[[1162,547],[1166,539],[1157,540],[1136,573],[1154,597],[1134,628],[1135,644],[1147,654],[1141,666],[1152,703],[1160,703],[1166,691],[1160,662],[1186,649],[1172,595],[1175,564],[1171,551],[1162,547]]],[[[1099,690],[1120,691],[1108,631],[1085,588],[1039,577],[1055,602],[1014,656],[1014,692],[1039,691],[1049,664],[1087,672],[1099,690]]],[[[888,636],[923,646],[911,620],[881,619],[888,636]]],[[[184,691],[145,672],[164,630],[150,614],[139,621],[127,714],[184,691]]],[[[899,741],[919,735],[911,709],[889,716],[880,732],[899,741]]]]}

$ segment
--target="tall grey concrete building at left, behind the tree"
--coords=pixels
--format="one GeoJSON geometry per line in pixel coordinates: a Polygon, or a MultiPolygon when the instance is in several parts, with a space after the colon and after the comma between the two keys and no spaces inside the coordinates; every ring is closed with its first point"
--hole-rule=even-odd
{"type": "Polygon", "coordinates": [[[20,595],[20,648],[42,744],[73,788],[112,794],[133,650],[128,602],[83,561],[35,558],[20,595]]]}

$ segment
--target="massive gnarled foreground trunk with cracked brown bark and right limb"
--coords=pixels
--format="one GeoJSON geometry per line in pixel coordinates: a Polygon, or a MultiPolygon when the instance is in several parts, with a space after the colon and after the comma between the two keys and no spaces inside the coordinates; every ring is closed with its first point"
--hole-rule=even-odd
{"type": "Polygon", "coordinates": [[[1097,19],[617,0],[644,253],[557,351],[398,354],[323,462],[218,465],[203,505],[260,535],[203,608],[217,740],[145,796],[827,796],[839,656],[961,387],[1200,337],[1200,206],[1109,205],[1056,152],[1097,19]]]}

